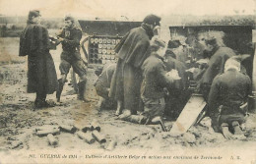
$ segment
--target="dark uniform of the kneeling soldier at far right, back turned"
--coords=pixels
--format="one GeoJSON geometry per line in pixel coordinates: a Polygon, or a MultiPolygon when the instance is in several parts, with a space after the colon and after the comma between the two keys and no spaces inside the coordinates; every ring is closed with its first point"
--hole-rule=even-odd
{"type": "Polygon", "coordinates": [[[250,78],[234,69],[217,76],[208,99],[213,123],[217,126],[221,126],[222,123],[230,125],[233,121],[243,123],[246,111],[240,106],[247,102],[250,92],[250,78]]]}

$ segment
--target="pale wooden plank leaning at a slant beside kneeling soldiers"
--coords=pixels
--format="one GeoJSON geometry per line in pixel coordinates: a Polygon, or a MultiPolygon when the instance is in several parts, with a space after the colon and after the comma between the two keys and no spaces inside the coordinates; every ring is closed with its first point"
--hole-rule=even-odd
{"type": "Polygon", "coordinates": [[[171,136],[180,136],[185,134],[187,130],[194,125],[198,115],[204,109],[205,105],[206,101],[202,95],[192,95],[180,113],[178,119],[173,124],[170,130],[171,136]]]}

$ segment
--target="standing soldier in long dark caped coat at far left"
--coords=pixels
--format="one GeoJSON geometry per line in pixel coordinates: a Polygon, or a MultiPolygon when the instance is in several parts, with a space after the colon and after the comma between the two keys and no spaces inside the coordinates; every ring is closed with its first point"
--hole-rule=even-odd
{"type": "Polygon", "coordinates": [[[39,11],[33,10],[21,34],[19,56],[28,55],[28,92],[36,93],[35,108],[48,107],[46,94],[52,94],[58,85],[49,47],[48,30],[40,26],[39,11]]]}

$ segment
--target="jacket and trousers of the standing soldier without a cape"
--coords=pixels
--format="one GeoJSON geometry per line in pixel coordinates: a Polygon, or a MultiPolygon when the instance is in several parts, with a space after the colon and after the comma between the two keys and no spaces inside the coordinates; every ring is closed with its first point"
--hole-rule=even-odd
{"type": "Polygon", "coordinates": [[[62,53],[60,55],[61,63],[59,66],[61,75],[67,75],[70,67],[80,78],[85,79],[87,70],[80,54],[80,40],[82,31],[78,27],[63,28],[59,37],[64,38],[62,41],[62,53]]]}

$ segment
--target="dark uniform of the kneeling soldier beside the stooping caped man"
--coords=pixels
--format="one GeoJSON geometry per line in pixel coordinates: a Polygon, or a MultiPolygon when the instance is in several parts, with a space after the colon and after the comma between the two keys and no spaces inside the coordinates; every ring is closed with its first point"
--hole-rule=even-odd
{"type": "Polygon", "coordinates": [[[162,116],[165,107],[163,87],[167,85],[165,66],[157,53],[152,53],[142,65],[143,82],[141,96],[144,102],[143,115],[148,120],[162,116]]]}

